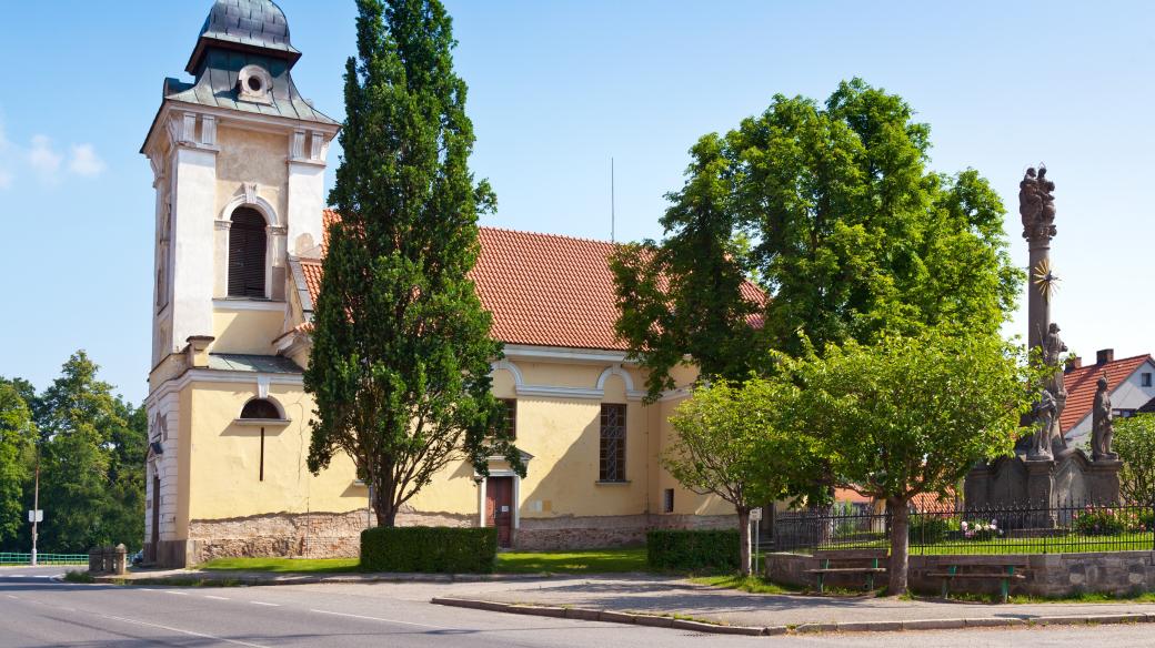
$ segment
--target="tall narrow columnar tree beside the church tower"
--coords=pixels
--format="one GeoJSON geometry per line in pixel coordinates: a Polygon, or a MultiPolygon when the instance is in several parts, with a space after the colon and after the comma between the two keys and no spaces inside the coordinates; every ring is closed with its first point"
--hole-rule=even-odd
{"type": "Polygon", "coordinates": [[[501,345],[467,273],[477,213],[494,204],[468,159],[465,83],[452,21],[435,0],[358,0],[357,56],[345,67],[344,158],[305,387],[316,416],[308,468],[352,458],[393,526],[452,461],[483,474],[505,455],[490,362],[501,345]]]}

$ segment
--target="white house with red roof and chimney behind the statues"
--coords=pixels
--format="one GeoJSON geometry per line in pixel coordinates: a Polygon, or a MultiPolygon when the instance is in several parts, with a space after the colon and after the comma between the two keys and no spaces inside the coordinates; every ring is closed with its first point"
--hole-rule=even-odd
{"type": "Polygon", "coordinates": [[[1134,416],[1155,399],[1155,360],[1150,354],[1116,360],[1115,349],[1105,348],[1096,354],[1094,364],[1083,366],[1082,359],[1071,359],[1063,374],[1067,401],[1059,425],[1073,447],[1086,449],[1090,444],[1091,408],[1098,379],[1104,375],[1116,417],[1134,416]]]}

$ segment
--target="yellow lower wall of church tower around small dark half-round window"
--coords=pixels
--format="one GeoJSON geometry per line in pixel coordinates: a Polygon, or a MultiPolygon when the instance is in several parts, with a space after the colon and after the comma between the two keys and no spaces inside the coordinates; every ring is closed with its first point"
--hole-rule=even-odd
{"type": "Polygon", "coordinates": [[[313,404],[300,386],[269,386],[269,398],[291,422],[264,428],[264,481],[260,480],[261,429],[234,422],[245,402],[256,397],[255,377],[253,384],[194,382],[186,392],[194,414],[191,465],[185,474],[198,484],[186,499],[188,518],[345,513],[366,505],[367,489],[353,483],[356,470],[344,454],[334,457],[316,476],[305,466],[313,404]]]}

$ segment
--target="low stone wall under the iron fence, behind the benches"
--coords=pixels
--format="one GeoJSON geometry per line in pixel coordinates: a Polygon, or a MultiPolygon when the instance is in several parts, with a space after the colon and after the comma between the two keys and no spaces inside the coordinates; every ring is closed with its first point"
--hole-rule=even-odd
{"type": "MultiPolygon", "coordinates": [[[[966,564],[964,570],[1000,571],[1006,560],[1027,563],[1027,578],[1012,585],[1012,594],[1034,596],[1073,596],[1081,593],[1127,595],[1155,589],[1155,552],[1109,551],[1093,553],[1048,553],[1004,556],[911,556],[908,571],[910,588],[916,592],[938,593],[942,579],[927,574],[945,572],[952,564],[966,564]]],[[[797,553],[770,553],[766,556],[766,570],[770,579],[800,587],[813,587],[813,574],[806,570],[817,568],[819,559],[797,553]]],[[[879,579],[884,582],[885,577],[879,579]]],[[[835,587],[862,587],[860,575],[835,575],[826,579],[835,587]]],[[[954,592],[996,593],[997,580],[960,579],[951,586],[954,592]]]]}

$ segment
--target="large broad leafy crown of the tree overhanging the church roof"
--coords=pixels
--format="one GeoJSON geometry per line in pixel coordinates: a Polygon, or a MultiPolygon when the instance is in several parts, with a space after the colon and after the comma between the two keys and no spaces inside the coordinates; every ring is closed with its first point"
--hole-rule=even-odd
{"type": "Polygon", "coordinates": [[[687,355],[705,376],[742,378],[769,369],[766,348],[999,330],[1023,279],[1006,210],[974,169],[927,168],[930,127],[914,115],[855,78],[825,105],[776,96],[694,145],[665,239],[614,264],[619,334],[651,395],[687,355]],[[744,293],[745,277],[769,299],[744,293]]]}

